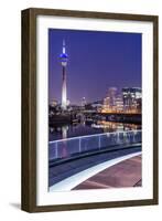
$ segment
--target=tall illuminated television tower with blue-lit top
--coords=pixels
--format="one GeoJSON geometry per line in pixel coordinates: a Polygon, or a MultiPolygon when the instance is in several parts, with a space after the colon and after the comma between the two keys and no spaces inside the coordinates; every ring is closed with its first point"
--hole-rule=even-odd
{"type": "Polygon", "coordinates": [[[63,82],[62,82],[62,109],[66,110],[67,107],[67,88],[66,88],[66,65],[68,56],[66,54],[65,41],[63,40],[63,52],[60,55],[61,65],[63,67],[63,82]]]}

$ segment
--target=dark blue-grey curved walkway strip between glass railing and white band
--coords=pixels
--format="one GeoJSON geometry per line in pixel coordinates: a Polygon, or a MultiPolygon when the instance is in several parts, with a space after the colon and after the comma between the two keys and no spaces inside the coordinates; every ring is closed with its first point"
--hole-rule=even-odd
{"type": "Polygon", "coordinates": [[[94,166],[98,166],[109,160],[117,159],[130,154],[141,151],[141,147],[130,147],[126,149],[119,149],[118,151],[100,152],[94,156],[83,157],[76,160],[69,160],[64,164],[56,165],[48,168],[48,186],[52,187],[66,178],[85,171],[94,166]]]}

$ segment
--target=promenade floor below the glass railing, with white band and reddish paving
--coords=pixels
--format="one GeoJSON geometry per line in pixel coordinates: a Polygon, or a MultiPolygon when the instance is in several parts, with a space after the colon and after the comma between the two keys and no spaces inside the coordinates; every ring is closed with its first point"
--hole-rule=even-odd
{"type": "MultiPolygon", "coordinates": [[[[118,151],[112,152],[102,152],[90,157],[84,157],[77,160],[67,161],[65,164],[57,165],[55,167],[51,167],[48,169],[48,185],[50,191],[68,191],[72,189],[97,189],[99,183],[101,185],[107,179],[114,178],[114,187],[115,179],[117,181],[117,186],[134,186],[141,179],[141,158],[131,159],[131,157],[137,157],[141,155],[141,147],[133,146],[132,148],[120,149],[118,151]],[[109,169],[111,168],[110,172],[109,169]],[[108,170],[107,170],[108,169],[108,170]],[[119,171],[118,171],[119,169],[119,171]],[[106,171],[106,172],[105,172],[106,171]],[[102,173],[104,172],[104,173],[102,173]],[[108,175],[106,176],[106,173],[108,175]],[[111,175],[116,173],[115,177],[111,175]],[[125,175],[125,177],[123,177],[125,175]],[[105,176],[105,179],[100,179],[100,176],[105,176]],[[131,177],[136,177],[136,180],[130,183],[131,177]],[[91,185],[87,181],[90,181],[89,178],[94,178],[98,180],[96,185],[91,185]],[[120,178],[120,180],[119,180],[120,178]],[[122,183],[121,183],[122,180],[122,183]],[[119,183],[120,181],[120,183],[119,183]],[[80,186],[79,186],[80,185],[80,186]]],[[[110,183],[106,183],[106,186],[110,187],[110,183]]],[[[101,187],[101,186],[100,186],[101,187]]],[[[111,185],[112,187],[112,185],[111,185]]]]}

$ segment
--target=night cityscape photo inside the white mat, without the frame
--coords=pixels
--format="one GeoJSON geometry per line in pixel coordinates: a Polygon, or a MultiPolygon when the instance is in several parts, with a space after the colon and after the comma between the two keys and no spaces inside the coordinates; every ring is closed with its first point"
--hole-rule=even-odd
{"type": "Polygon", "coordinates": [[[141,33],[48,30],[48,190],[142,186],[141,33]]]}

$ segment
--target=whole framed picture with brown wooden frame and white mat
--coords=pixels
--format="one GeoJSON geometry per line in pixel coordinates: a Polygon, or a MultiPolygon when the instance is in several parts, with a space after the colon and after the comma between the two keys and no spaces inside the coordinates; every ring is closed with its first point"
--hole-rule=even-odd
{"type": "Polygon", "coordinates": [[[22,11],[22,210],[158,204],[158,17],[22,11]]]}

